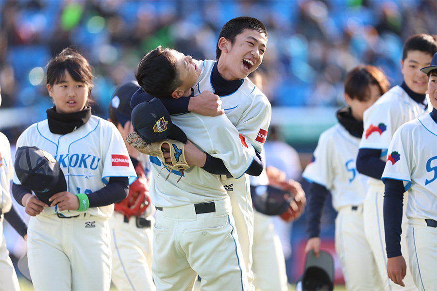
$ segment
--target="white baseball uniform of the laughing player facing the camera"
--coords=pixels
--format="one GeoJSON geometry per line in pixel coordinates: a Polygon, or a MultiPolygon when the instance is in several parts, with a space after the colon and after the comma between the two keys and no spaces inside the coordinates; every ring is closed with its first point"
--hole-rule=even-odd
{"type": "MultiPolygon", "coordinates": [[[[197,61],[201,75],[194,86],[194,95],[208,90],[215,92],[211,76],[216,61],[197,61]]],[[[234,93],[220,96],[221,108],[226,116],[256,151],[261,152],[267,138],[271,119],[271,105],[268,98],[256,87],[249,78],[234,93]]],[[[219,135],[214,140],[220,139],[219,135]]],[[[235,177],[235,176],[234,176],[235,177]]],[[[232,214],[238,232],[239,242],[243,250],[249,285],[253,282],[252,244],[253,244],[253,208],[250,194],[250,182],[247,175],[241,178],[225,178],[222,184],[231,197],[232,214]]]]}

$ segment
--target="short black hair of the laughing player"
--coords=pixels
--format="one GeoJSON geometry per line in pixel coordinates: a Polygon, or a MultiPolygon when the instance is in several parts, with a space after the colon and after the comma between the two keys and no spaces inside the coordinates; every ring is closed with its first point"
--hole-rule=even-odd
{"type": "Polygon", "coordinates": [[[235,37],[243,32],[245,29],[251,29],[256,30],[259,33],[266,34],[266,37],[269,35],[267,34],[267,28],[264,26],[264,24],[259,21],[256,18],[249,17],[249,16],[240,16],[235,17],[229,20],[228,22],[223,25],[221,28],[220,34],[218,35],[217,39],[217,48],[216,48],[216,59],[221,55],[221,49],[218,48],[218,40],[222,37],[229,39],[231,41],[231,44],[234,45],[235,43],[235,37]]]}

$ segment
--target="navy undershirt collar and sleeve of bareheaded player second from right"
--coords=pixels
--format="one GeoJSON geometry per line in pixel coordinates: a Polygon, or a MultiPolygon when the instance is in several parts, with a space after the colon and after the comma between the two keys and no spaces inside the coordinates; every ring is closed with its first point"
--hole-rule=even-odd
{"type": "MultiPolygon", "coordinates": [[[[424,94],[418,94],[413,92],[405,84],[405,81],[401,84],[403,90],[408,94],[408,96],[421,104],[425,109],[428,107],[426,103],[426,98],[424,94]]],[[[358,151],[358,156],[356,158],[356,169],[359,173],[369,176],[375,179],[381,179],[382,173],[384,172],[384,167],[386,163],[381,161],[382,149],[373,148],[360,148],[358,151]]]]}

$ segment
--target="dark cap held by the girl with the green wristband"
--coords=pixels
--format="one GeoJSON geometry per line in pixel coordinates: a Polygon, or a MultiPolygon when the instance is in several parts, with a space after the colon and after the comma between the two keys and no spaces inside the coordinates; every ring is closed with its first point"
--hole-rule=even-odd
{"type": "Polygon", "coordinates": [[[45,150],[36,146],[18,147],[14,167],[21,185],[34,191],[36,197],[48,205],[52,195],[67,191],[59,162],[45,150]]]}

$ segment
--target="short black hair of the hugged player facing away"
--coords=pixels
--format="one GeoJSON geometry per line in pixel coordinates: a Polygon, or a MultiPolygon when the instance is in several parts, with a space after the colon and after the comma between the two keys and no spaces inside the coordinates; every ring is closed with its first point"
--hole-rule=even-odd
{"type": "Polygon", "coordinates": [[[147,53],[135,70],[138,85],[153,97],[170,97],[182,84],[176,70],[177,59],[161,46],[147,53]]]}

